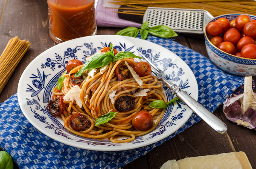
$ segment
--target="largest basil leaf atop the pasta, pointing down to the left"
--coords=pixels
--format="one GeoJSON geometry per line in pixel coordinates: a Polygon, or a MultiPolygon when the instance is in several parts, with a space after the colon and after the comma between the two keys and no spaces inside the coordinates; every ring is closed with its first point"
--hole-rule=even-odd
{"type": "Polygon", "coordinates": [[[90,70],[94,68],[99,68],[102,66],[106,66],[111,63],[112,57],[108,56],[107,54],[95,54],[90,57],[89,60],[84,64],[84,66],[76,72],[74,77],[79,77],[85,70],[90,70]]]}

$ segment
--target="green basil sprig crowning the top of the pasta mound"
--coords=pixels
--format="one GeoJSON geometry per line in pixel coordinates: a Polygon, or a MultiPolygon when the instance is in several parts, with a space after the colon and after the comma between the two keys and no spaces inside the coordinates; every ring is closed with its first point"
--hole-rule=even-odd
{"type": "Polygon", "coordinates": [[[126,52],[118,52],[116,55],[114,55],[113,44],[111,43],[110,51],[106,52],[105,54],[95,54],[95,55],[91,56],[90,59],[86,61],[84,66],[74,75],[74,77],[81,76],[81,74],[85,70],[90,70],[90,69],[106,66],[109,63],[111,63],[111,61],[115,62],[116,60],[130,58],[130,57],[142,59],[142,57],[136,56],[134,53],[127,52],[127,51],[126,52]]]}

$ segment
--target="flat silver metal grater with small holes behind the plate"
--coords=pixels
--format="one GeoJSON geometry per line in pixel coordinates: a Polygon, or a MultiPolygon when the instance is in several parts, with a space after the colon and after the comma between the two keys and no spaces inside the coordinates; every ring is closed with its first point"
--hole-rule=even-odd
{"type": "Polygon", "coordinates": [[[149,27],[165,25],[175,32],[204,33],[204,26],[213,16],[201,9],[176,9],[148,7],[143,23],[148,21],[149,27]]]}

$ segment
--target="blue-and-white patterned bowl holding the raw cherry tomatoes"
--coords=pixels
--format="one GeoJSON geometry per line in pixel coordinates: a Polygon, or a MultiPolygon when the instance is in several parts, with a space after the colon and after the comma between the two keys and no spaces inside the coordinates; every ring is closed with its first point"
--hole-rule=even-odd
{"type": "MultiPolygon", "coordinates": [[[[210,39],[212,37],[206,32],[206,27],[210,22],[216,21],[221,17],[227,18],[229,21],[231,21],[236,19],[236,17],[238,17],[239,15],[241,14],[224,14],[218,17],[214,17],[208,21],[208,23],[204,27],[204,40],[207,53],[212,63],[214,63],[218,68],[220,68],[224,72],[239,76],[256,76],[256,59],[237,57],[235,55],[228,54],[227,52],[218,49],[210,42],[210,39]]],[[[256,16],[248,16],[251,19],[256,20],[256,16]]]]}

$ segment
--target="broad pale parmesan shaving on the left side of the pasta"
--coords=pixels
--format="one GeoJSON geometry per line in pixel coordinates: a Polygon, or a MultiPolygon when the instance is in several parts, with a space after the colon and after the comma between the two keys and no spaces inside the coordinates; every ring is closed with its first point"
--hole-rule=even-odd
{"type": "Polygon", "coordinates": [[[80,98],[81,89],[79,86],[73,86],[66,95],[64,95],[63,99],[66,101],[76,101],[76,104],[81,108],[83,106],[81,98],[80,98]]]}

